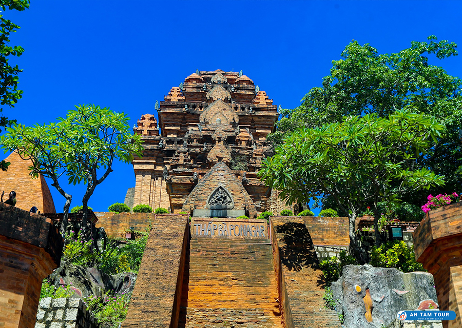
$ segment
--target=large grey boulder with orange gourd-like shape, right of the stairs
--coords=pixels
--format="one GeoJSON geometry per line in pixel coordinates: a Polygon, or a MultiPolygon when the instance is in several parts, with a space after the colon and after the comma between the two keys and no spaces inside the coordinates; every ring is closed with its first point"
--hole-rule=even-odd
{"type": "Polygon", "coordinates": [[[401,310],[438,308],[433,276],[427,272],[346,265],[332,292],[347,328],[388,327],[401,310]]]}

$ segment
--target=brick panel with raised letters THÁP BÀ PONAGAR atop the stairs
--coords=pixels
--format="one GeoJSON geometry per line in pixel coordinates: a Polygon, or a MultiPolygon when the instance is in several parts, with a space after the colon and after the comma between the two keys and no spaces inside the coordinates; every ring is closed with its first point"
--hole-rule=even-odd
{"type": "Polygon", "coordinates": [[[269,239],[266,220],[229,219],[205,220],[195,218],[191,222],[192,237],[269,239]]]}

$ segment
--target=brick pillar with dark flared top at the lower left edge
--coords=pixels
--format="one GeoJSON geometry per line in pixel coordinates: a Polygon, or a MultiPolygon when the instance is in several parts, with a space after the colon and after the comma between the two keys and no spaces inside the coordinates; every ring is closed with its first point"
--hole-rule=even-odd
{"type": "Polygon", "coordinates": [[[34,327],[42,280],[62,249],[49,218],[0,203],[0,327],[34,327]]]}

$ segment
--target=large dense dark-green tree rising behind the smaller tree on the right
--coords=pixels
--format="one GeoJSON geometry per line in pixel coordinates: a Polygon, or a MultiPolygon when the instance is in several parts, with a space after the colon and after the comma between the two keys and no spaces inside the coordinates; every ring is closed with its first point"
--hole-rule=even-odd
{"type": "Polygon", "coordinates": [[[278,131],[269,139],[280,144],[287,133],[341,122],[350,115],[387,117],[395,110],[430,114],[445,126],[446,134],[437,137],[436,146],[420,158],[418,166],[444,175],[446,188],[455,191],[462,185],[458,130],[462,128],[462,80],[430,65],[429,56],[456,56],[456,47],[447,40],[438,42],[432,35],[428,42],[412,42],[398,53],[378,54],[369,44],[361,46],[354,41],[345,47],[340,60],[332,61],[322,87],[311,89],[296,109],[281,112],[278,131]]]}

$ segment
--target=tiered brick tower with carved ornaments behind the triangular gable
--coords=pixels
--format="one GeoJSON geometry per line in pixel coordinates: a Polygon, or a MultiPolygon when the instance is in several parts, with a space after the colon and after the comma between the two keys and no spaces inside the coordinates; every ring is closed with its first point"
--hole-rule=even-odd
{"type": "Polygon", "coordinates": [[[156,109],[160,135],[152,115],[143,115],[134,128],[144,147],[143,157],[133,160],[134,205],[192,214],[207,209],[207,188],[211,192],[221,185],[226,191],[223,195],[251,199],[233,213],[255,216],[269,209],[271,189],[258,179],[257,172],[271,151],[266,136],[273,131],[278,112],[253,80],[237,72],[196,71],[180,87],[171,88],[156,109]],[[227,168],[220,167],[208,175],[210,181],[201,181],[219,162],[227,168]],[[228,173],[234,178],[216,178],[228,173]],[[233,180],[229,186],[228,180],[233,180]],[[203,191],[187,199],[198,183],[203,191]]]}

